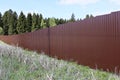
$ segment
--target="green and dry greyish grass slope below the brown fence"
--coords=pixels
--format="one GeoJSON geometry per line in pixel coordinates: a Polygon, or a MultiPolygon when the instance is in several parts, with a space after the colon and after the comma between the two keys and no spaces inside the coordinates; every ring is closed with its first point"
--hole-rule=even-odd
{"type": "Polygon", "coordinates": [[[120,80],[120,77],[0,42],[0,80],[120,80]]]}

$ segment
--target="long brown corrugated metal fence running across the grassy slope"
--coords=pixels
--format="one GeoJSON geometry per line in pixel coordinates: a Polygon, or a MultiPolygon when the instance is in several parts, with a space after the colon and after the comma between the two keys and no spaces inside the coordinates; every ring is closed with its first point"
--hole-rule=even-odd
{"type": "Polygon", "coordinates": [[[120,12],[0,39],[92,68],[120,70],[120,12]]]}

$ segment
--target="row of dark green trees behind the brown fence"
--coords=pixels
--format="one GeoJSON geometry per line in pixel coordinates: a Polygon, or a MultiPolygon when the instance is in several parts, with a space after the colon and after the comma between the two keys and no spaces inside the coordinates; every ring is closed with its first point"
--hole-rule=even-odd
{"type": "MultiPolygon", "coordinates": [[[[89,18],[89,15],[86,16],[89,18]]],[[[42,14],[28,13],[26,16],[23,12],[18,14],[11,9],[3,15],[0,13],[0,34],[11,35],[25,32],[32,32],[66,22],[76,21],[74,14],[69,20],[63,18],[43,18],[42,14]]]]}

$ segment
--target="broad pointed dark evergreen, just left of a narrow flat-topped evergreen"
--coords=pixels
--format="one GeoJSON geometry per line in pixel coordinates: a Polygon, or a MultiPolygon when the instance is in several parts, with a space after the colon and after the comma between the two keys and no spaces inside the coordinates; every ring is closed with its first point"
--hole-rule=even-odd
{"type": "Polygon", "coordinates": [[[26,32],[26,17],[23,12],[20,13],[18,23],[17,23],[17,32],[24,33],[26,32]]]}

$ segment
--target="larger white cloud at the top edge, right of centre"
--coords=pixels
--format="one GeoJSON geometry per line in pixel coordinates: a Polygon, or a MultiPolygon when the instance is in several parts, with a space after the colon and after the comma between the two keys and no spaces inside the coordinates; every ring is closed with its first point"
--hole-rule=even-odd
{"type": "Polygon", "coordinates": [[[62,5],[88,5],[98,2],[99,0],[59,0],[62,5]]]}

